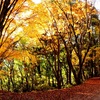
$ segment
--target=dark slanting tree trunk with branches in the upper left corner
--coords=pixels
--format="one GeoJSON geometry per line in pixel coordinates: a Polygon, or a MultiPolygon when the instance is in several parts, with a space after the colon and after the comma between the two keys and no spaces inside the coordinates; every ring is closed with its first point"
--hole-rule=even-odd
{"type": "Polygon", "coordinates": [[[0,0],[0,38],[12,10],[18,0],[0,0]]]}

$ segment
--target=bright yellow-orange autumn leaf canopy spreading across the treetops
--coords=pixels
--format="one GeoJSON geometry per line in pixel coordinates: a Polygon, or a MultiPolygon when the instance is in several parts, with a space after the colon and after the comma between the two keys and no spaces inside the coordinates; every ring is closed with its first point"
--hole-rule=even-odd
{"type": "MultiPolygon", "coordinates": [[[[23,0],[19,0],[11,14],[11,18],[13,18],[15,13],[17,13],[16,17],[13,18],[10,27],[7,29],[6,34],[9,38],[4,41],[0,48],[0,57],[17,58],[25,60],[26,62],[29,62],[31,59],[32,62],[36,62],[35,56],[29,54],[29,51],[18,51],[13,48],[13,43],[15,41],[20,41],[23,37],[27,37],[29,38],[29,41],[30,39],[33,39],[34,43],[31,43],[31,41],[29,43],[30,45],[34,44],[35,46],[38,46],[40,45],[39,38],[41,37],[41,34],[48,30],[50,33],[49,35],[56,34],[55,27],[58,28],[59,32],[68,32],[68,25],[73,23],[75,34],[81,34],[84,30],[80,29],[79,22],[80,24],[82,22],[84,23],[84,21],[87,20],[85,18],[89,12],[95,14],[96,10],[90,5],[86,5],[85,3],[78,1],[71,8],[71,6],[64,0],[63,2],[56,1],[54,3],[41,3],[38,5],[35,5],[32,0],[27,0],[25,2],[23,0]],[[22,6],[20,7],[20,5],[22,6]]],[[[82,28],[86,29],[86,27],[86,24],[83,24],[82,28]]],[[[91,33],[92,30],[88,29],[87,32],[91,33]]],[[[65,37],[67,37],[67,35],[68,34],[66,34],[65,37]]]]}

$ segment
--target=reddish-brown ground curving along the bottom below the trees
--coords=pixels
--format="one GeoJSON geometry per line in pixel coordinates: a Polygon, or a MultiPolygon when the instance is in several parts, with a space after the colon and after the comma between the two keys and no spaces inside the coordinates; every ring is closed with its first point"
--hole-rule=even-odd
{"type": "Polygon", "coordinates": [[[100,77],[67,89],[11,93],[0,91],[0,100],[100,100],[100,77]]]}

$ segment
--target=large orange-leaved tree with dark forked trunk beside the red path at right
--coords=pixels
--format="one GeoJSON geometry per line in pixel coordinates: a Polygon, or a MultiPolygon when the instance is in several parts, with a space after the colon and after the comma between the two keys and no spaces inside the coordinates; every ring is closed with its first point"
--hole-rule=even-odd
{"type": "MultiPolygon", "coordinates": [[[[66,61],[69,66],[69,79],[73,72],[77,84],[82,82],[82,73],[85,59],[91,44],[91,16],[96,13],[94,7],[83,2],[60,2],[55,1],[51,4],[51,16],[53,17],[54,34],[58,34],[63,41],[66,50],[66,61]],[[83,9],[82,9],[83,8],[83,9]],[[63,27],[62,27],[63,26],[63,27]],[[83,51],[85,52],[83,53],[83,51]],[[77,70],[72,63],[72,51],[77,56],[77,70]]],[[[48,7],[49,8],[49,7],[48,7]]],[[[71,82],[70,82],[71,83],[71,82]]]]}

